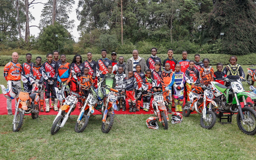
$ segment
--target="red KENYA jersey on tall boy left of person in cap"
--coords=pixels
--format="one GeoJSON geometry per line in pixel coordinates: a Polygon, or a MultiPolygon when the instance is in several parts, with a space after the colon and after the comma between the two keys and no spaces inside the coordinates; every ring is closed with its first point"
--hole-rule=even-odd
{"type": "Polygon", "coordinates": [[[103,61],[102,58],[97,60],[96,62],[96,76],[104,78],[104,75],[108,73],[108,66],[109,64],[112,64],[111,60],[106,58],[106,60],[103,61]]]}

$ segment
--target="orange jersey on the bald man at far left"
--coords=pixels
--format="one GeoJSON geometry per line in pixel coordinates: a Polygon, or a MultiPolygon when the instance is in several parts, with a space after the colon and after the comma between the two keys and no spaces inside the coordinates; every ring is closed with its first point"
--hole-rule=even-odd
{"type": "Polygon", "coordinates": [[[22,72],[22,66],[17,62],[10,61],[4,66],[3,76],[6,81],[20,80],[20,73],[22,72]]]}

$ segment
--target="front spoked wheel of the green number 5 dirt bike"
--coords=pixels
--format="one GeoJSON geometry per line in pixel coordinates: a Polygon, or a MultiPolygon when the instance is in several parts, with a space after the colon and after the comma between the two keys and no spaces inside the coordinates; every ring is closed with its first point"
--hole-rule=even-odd
{"type": "Polygon", "coordinates": [[[241,116],[238,113],[237,125],[239,129],[245,134],[254,135],[256,133],[256,112],[250,107],[243,107],[242,111],[244,115],[244,121],[241,120],[241,116]]]}

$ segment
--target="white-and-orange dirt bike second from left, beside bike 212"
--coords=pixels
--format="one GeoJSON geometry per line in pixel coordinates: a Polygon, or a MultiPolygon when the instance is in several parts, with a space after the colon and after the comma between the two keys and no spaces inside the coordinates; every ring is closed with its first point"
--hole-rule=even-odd
{"type": "MultiPolygon", "coordinates": [[[[55,87],[55,90],[58,91],[58,88],[55,87]]],[[[60,128],[64,127],[71,112],[75,110],[77,98],[80,97],[78,93],[72,92],[68,89],[66,91],[68,91],[70,94],[59,108],[58,114],[53,121],[53,126],[51,128],[52,135],[56,134],[60,128]]]]}

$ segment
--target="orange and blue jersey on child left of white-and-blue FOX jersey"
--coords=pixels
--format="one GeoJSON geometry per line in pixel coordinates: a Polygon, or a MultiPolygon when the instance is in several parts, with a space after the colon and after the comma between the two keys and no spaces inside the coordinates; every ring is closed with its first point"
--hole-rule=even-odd
{"type": "Polygon", "coordinates": [[[172,86],[174,83],[174,73],[173,71],[169,70],[166,71],[165,69],[162,71],[161,74],[161,85],[162,89],[165,90],[165,87],[172,86]]]}

